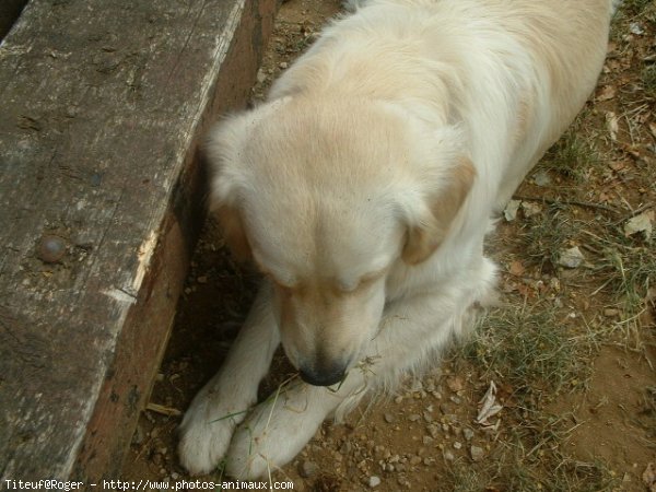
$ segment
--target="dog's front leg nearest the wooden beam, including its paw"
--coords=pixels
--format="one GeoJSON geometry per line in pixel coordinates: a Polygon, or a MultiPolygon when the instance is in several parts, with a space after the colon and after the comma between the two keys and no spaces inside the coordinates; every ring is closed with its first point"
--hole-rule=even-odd
{"type": "Polygon", "coordinates": [[[262,285],[221,370],[196,395],[179,429],[178,454],[192,475],[212,471],[225,455],[236,425],[257,401],[280,335],[271,291],[262,285]]]}

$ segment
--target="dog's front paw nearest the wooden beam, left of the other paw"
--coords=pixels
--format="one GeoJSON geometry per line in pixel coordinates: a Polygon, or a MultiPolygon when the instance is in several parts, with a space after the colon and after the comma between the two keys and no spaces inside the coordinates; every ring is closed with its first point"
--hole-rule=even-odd
{"type": "Polygon", "coordinates": [[[207,475],[216,468],[235,427],[246,417],[249,401],[239,402],[220,395],[208,387],[201,389],[180,424],[178,456],[191,475],[207,475]]]}

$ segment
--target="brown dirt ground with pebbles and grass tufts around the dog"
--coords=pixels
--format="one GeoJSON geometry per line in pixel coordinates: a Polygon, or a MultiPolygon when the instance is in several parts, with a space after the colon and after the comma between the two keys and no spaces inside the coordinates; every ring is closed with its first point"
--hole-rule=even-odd
{"type": "MultiPolygon", "coordinates": [[[[339,9],[282,5],[254,101],[339,9]]],[[[656,5],[628,1],[595,96],[500,221],[488,249],[504,305],[441,367],[326,422],[276,479],[321,492],[656,491],[655,34],[656,5]],[[478,419],[485,394],[496,407],[478,419]]],[[[122,479],[188,478],[175,429],[257,282],[210,219],[122,479]]]]}

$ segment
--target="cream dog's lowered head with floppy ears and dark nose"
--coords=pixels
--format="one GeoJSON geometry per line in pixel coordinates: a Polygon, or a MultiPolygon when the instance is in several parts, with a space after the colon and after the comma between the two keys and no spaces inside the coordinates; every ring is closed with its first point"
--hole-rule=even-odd
{"type": "Polygon", "coordinates": [[[210,136],[212,210],[234,254],[270,280],[307,383],[336,384],[365,355],[389,272],[422,268],[471,187],[457,145],[408,125],[384,104],[285,98],[210,136]]]}

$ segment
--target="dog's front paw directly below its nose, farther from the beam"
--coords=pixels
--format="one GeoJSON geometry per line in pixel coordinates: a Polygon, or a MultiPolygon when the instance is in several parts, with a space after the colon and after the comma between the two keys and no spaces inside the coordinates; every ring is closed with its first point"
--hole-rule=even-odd
{"type": "Polygon", "coordinates": [[[225,471],[243,480],[267,476],[290,462],[315,435],[330,408],[306,384],[289,388],[258,405],[237,427],[225,471]]]}

